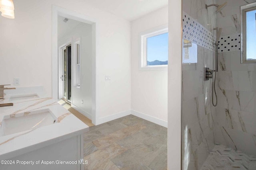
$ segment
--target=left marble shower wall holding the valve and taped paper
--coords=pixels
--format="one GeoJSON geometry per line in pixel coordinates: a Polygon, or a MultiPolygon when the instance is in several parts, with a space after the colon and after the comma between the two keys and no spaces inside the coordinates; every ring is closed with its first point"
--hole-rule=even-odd
{"type": "Polygon", "coordinates": [[[182,0],[182,4],[183,38],[188,35],[189,40],[197,44],[197,63],[182,64],[182,169],[199,170],[215,144],[216,108],[211,104],[212,80],[203,80],[203,69],[205,66],[212,69],[211,43],[216,34],[213,31],[216,9],[206,10],[205,5],[216,4],[216,0],[182,0]],[[185,14],[188,15],[186,18],[193,19],[191,24],[198,27],[192,26],[193,31],[188,33],[185,29],[190,21],[184,18],[185,14]]]}

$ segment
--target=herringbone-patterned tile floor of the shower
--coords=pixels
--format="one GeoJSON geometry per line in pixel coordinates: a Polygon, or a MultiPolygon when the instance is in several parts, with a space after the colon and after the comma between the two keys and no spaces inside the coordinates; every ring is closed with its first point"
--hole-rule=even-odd
{"type": "Polygon", "coordinates": [[[256,156],[217,144],[200,170],[256,170],[256,156]]]}

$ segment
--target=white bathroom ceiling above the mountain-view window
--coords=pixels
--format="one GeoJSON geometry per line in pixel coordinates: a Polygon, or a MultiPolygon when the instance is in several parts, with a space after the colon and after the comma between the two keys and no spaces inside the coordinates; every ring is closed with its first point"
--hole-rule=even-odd
{"type": "Polygon", "coordinates": [[[168,0],[84,0],[84,2],[130,21],[168,5],[168,0]]]}

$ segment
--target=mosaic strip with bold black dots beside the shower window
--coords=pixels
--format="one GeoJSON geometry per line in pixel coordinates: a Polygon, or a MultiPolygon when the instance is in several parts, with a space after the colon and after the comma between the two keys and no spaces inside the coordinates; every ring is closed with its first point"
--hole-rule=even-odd
{"type": "Polygon", "coordinates": [[[240,33],[220,37],[218,41],[218,52],[239,51],[241,48],[240,33]]]}

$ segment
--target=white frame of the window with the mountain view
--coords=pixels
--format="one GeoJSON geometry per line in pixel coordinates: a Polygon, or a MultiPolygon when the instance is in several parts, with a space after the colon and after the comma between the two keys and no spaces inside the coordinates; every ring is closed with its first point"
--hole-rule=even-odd
{"type": "MultiPolygon", "coordinates": [[[[160,27],[155,27],[153,29],[144,31],[140,33],[140,59],[139,59],[139,70],[167,70],[168,64],[166,65],[147,65],[147,38],[154,37],[168,33],[168,25],[161,25],[160,27]]],[[[168,34],[169,36],[169,34],[168,34]]]]}

